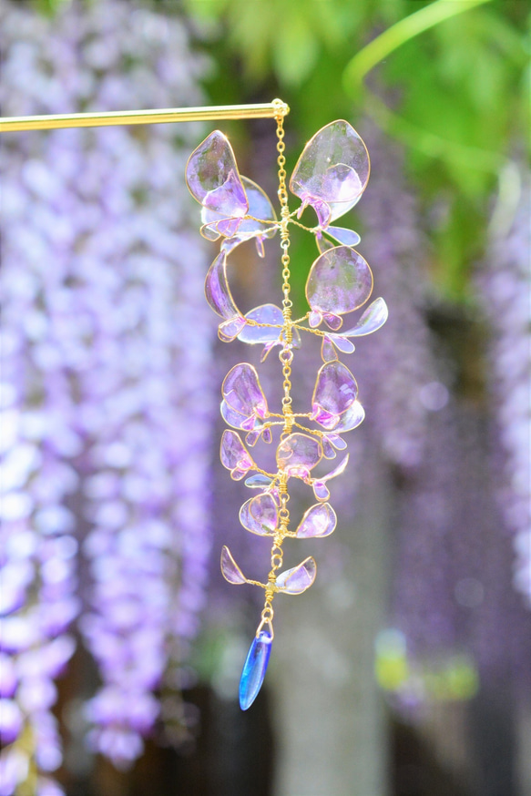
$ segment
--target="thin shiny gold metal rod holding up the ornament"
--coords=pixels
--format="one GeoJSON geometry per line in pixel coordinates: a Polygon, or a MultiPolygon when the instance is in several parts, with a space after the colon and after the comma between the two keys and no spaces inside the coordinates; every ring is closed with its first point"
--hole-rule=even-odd
{"type": "Polygon", "coordinates": [[[0,133],[59,128],[100,128],[111,125],[155,125],[171,122],[217,121],[218,119],[274,118],[286,116],[290,108],[276,99],[257,105],[167,107],[158,110],[121,110],[103,113],[61,113],[53,116],[0,118],[0,133]]]}

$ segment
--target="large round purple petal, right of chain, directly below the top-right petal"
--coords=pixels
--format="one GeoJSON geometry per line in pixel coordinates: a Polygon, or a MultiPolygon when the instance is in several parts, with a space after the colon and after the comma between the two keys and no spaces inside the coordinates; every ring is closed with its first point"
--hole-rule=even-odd
{"type": "Polygon", "coordinates": [[[312,311],[342,315],[357,310],[373,291],[373,273],[350,246],[325,251],[311,266],[306,298],[312,311]]]}

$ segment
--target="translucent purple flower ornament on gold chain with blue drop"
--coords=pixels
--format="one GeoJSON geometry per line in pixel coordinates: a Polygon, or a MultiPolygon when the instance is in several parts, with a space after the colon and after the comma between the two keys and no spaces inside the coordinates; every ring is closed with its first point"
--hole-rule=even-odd
{"type": "Polygon", "coordinates": [[[283,117],[288,108],[281,100],[275,100],[275,104],[280,219],[263,190],[240,175],[229,139],[219,130],[192,152],[186,171],[189,190],[201,204],[201,234],[209,240],[220,240],[220,254],[210,266],[205,282],[207,301],[222,319],[220,340],[263,344],[262,362],[274,346],[281,347],[281,413],[271,411],[259,374],[249,362],[231,368],[222,385],[221,414],[230,429],[221,439],[221,463],[235,481],[245,479],[246,486],[258,490],[258,495],[241,506],[240,523],[252,534],[271,537],[271,571],[264,583],[246,577],[228,547],[224,546],[221,553],[221,571],[229,583],[252,584],[265,592],[260,624],[240,679],[240,707],[244,710],[256,699],[268,666],[274,635],[273,598],[277,594],[301,594],[315,580],[316,563],[311,556],[282,571],[284,540],[329,536],[336,526],[337,517],[328,502],[328,482],[342,474],[349,456],[346,454],[326,475],[315,475],[314,471],[346,448],[343,432],[352,431],[364,417],[358,385],[352,372],[340,362],[338,352],[353,352],[353,338],[375,332],[387,319],[385,301],[378,298],[353,326],[342,330],[342,316],[363,307],[373,291],[372,271],[353,249],[359,235],[332,226],[332,221],[361,198],[369,179],[369,155],[362,138],[341,119],[311,138],[289,183],[291,193],[301,199],[300,208],[291,212],[283,141],[283,117]],[[318,223],[312,228],[298,220],[307,207],[317,216],[318,223]],[[290,224],[312,234],[319,251],[306,282],[310,310],[296,320],[291,317],[290,224]],[[230,252],[252,239],[263,256],[264,240],[277,231],[282,251],[281,306],[263,304],[244,314],[230,292],[230,252]],[[291,363],[304,333],[321,337],[323,364],[310,406],[306,412],[295,412],[291,363]],[[254,461],[248,448],[259,441],[270,444],[273,439],[277,445],[277,470],[267,472],[254,461]],[[294,529],[288,509],[289,482],[293,478],[310,486],[316,501],[294,529]]]}

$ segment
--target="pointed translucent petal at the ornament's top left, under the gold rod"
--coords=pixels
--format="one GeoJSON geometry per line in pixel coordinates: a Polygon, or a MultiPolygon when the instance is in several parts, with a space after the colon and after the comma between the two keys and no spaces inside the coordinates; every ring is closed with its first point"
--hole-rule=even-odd
{"type": "Polygon", "coordinates": [[[220,130],[214,130],[194,149],[186,181],[192,196],[221,217],[241,218],[249,209],[229,138],[220,130]]]}

